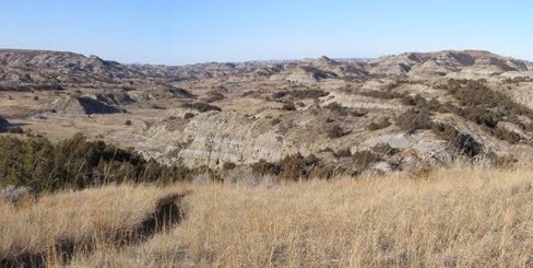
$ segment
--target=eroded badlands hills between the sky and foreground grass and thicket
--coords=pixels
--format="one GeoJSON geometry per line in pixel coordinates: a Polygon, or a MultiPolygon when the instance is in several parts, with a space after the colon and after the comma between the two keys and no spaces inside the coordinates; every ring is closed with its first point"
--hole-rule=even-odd
{"type": "Polygon", "coordinates": [[[532,155],[532,70],[474,50],[182,67],[1,50],[0,116],[7,135],[227,174],[389,173],[532,155]]]}

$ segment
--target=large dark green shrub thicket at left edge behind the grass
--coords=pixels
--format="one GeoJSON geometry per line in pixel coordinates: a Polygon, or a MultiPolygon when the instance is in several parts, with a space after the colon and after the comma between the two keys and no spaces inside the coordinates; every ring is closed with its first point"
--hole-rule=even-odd
{"type": "Polygon", "coordinates": [[[0,137],[0,185],[31,187],[36,193],[85,188],[107,183],[169,183],[190,171],[167,166],[104,141],[76,135],[57,144],[44,138],[0,137]]]}

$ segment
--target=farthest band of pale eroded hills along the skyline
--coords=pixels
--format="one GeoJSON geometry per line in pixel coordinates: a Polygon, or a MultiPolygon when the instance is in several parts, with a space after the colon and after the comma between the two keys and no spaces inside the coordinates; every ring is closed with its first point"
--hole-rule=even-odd
{"type": "Polygon", "coordinates": [[[135,85],[239,77],[317,82],[367,75],[462,75],[530,72],[533,63],[481,50],[406,53],[372,60],[328,57],[299,61],[208,62],[189,66],[122,65],[74,53],[0,49],[0,90],[61,90],[61,86],[135,85]]]}

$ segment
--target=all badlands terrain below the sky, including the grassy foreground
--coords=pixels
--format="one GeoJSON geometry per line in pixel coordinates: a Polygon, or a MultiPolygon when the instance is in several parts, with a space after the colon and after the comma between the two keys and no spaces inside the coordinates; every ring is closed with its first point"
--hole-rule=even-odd
{"type": "Polygon", "coordinates": [[[481,50],[0,50],[0,266],[531,266],[532,100],[481,50]]]}

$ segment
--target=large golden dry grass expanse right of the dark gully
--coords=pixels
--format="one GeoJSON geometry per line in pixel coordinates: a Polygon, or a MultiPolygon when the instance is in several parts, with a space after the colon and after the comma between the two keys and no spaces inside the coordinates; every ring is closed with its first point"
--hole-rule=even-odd
{"type": "Polygon", "coordinates": [[[197,186],[171,233],[82,254],[72,266],[530,267],[531,172],[197,186]]]}

